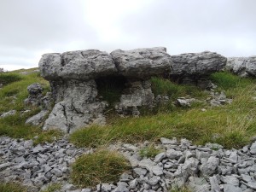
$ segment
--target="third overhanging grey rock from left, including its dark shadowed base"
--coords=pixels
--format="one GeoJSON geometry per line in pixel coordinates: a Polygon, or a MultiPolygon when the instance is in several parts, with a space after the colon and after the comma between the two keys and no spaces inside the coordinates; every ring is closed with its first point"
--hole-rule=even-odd
{"type": "Polygon", "coordinates": [[[196,84],[202,88],[209,85],[208,77],[223,69],[227,59],[214,52],[172,55],[172,78],[179,83],[196,84]]]}

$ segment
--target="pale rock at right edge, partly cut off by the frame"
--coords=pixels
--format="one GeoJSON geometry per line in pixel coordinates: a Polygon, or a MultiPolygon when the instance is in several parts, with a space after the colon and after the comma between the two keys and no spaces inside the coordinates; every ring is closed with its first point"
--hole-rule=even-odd
{"type": "Polygon", "coordinates": [[[256,77],[256,56],[230,57],[228,58],[226,67],[241,77],[256,77]]]}

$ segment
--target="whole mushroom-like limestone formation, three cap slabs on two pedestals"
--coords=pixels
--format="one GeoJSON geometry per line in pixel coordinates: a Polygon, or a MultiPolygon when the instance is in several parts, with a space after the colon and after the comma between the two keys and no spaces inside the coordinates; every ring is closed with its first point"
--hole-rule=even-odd
{"type": "Polygon", "coordinates": [[[152,76],[198,84],[225,66],[226,58],[212,52],[172,56],[166,48],[117,49],[108,55],[96,49],[45,54],[39,61],[41,75],[49,80],[55,107],[44,130],[58,128],[67,133],[91,123],[104,124],[108,102],[98,96],[97,80],[125,79],[124,90],[114,108],[120,114],[138,115],[139,108],[152,108],[152,76]]]}

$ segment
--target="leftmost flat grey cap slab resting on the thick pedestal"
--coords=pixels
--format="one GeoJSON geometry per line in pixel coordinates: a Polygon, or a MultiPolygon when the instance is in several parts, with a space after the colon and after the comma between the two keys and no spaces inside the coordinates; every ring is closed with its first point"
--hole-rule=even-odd
{"type": "Polygon", "coordinates": [[[39,68],[41,75],[48,80],[96,79],[116,71],[112,57],[97,49],[44,54],[39,68]]]}

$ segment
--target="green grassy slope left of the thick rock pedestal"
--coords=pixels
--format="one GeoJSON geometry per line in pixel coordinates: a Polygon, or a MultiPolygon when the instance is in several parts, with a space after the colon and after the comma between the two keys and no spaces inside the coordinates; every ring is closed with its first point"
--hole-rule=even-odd
{"type": "Polygon", "coordinates": [[[0,89],[0,114],[9,110],[16,110],[17,113],[0,119],[0,136],[24,137],[26,139],[37,137],[34,139],[35,144],[51,142],[54,137],[60,137],[60,131],[42,131],[39,127],[25,125],[26,119],[40,111],[40,108],[24,105],[24,100],[28,96],[26,87],[38,82],[43,85],[44,93],[46,93],[49,91],[49,82],[41,78],[38,73],[0,73],[0,79],[3,77],[8,84],[4,84],[3,88],[0,89]],[[12,79],[13,77],[16,78],[12,79]],[[22,113],[25,110],[30,110],[30,112],[22,113]]]}

